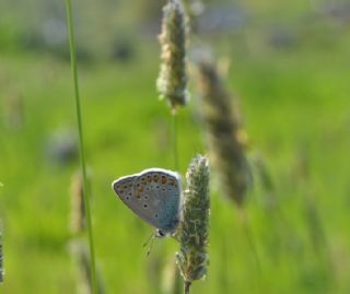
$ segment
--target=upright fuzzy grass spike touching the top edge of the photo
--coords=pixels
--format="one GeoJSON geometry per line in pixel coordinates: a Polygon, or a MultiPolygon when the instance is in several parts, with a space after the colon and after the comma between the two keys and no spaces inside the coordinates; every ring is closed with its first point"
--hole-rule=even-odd
{"type": "Polygon", "coordinates": [[[188,101],[186,72],[187,25],[182,2],[170,0],[163,9],[161,69],[156,81],[161,98],[166,98],[175,110],[188,101]]]}

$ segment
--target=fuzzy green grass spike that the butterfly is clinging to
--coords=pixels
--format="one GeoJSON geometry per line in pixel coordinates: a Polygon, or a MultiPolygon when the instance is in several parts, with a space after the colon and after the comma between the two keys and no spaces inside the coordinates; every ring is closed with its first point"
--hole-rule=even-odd
{"type": "Polygon", "coordinates": [[[185,293],[195,280],[205,278],[208,263],[209,235],[209,165],[201,155],[192,158],[187,170],[183,221],[178,230],[180,250],[176,262],[184,278],[185,293]]]}

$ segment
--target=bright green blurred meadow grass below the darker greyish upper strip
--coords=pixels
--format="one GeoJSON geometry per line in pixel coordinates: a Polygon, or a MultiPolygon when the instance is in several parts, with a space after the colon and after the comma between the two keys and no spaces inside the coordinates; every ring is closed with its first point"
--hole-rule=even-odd
{"type": "MultiPolygon", "coordinates": [[[[119,176],[173,167],[172,120],[155,91],[159,58],[153,45],[143,46],[129,64],[80,66],[96,263],[108,293],[156,293],[161,273],[152,271],[178,248],[173,239],[159,240],[147,257],[142,244],[152,228],[110,189],[119,176]]],[[[317,43],[284,51],[253,50],[235,39],[232,47],[219,47],[233,59],[228,85],[242,97],[252,150],[264,154],[278,209],[266,205],[268,196],[256,180],[247,213],[261,261],[258,277],[238,215],[221,198],[213,176],[209,274],[194,283],[192,293],[258,293],[258,280],[260,293],[349,293],[350,44],[343,35],[325,50],[317,43]],[[308,162],[306,178],[298,169],[301,154],[308,162]],[[327,245],[328,251],[313,248],[307,196],[319,212],[327,237],[320,246],[327,245]]],[[[0,287],[3,293],[74,293],[69,186],[78,163],[57,166],[45,154],[57,129],[74,130],[70,64],[49,55],[7,52],[0,77],[7,77],[1,80],[1,103],[13,92],[24,103],[24,126],[19,130],[5,126],[3,105],[0,108],[7,271],[0,287]]],[[[178,115],[183,174],[197,152],[206,152],[197,111],[194,97],[178,115]]]]}

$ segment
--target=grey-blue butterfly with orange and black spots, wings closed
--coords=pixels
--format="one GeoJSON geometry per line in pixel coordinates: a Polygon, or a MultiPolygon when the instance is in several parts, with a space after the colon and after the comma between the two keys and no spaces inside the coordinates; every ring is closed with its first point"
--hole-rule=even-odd
{"type": "Polygon", "coordinates": [[[156,237],[173,235],[179,223],[180,177],[163,168],[124,176],[112,187],[120,200],[142,220],[158,228],[156,237]]]}

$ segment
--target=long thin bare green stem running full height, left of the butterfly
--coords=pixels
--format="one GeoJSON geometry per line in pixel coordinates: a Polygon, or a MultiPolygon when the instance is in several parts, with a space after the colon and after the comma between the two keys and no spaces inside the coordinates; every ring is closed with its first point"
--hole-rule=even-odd
{"type": "Polygon", "coordinates": [[[83,127],[82,127],[80,94],[79,94],[79,84],[78,84],[78,68],[77,68],[77,54],[75,54],[75,45],[74,45],[73,19],[72,19],[72,9],[71,9],[70,0],[66,0],[66,13],[67,13],[68,30],[69,30],[69,47],[70,47],[70,58],[71,58],[71,67],[72,67],[73,83],[74,83],[80,161],[81,161],[81,169],[83,175],[83,196],[84,196],[86,227],[88,227],[89,245],[90,245],[91,284],[92,284],[92,293],[97,294],[97,280],[96,280],[95,252],[94,252],[95,250],[94,250],[94,243],[93,243],[92,222],[91,222],[90,203],[89,203],[89,195],[88,195],[89,185],[88,185],[88,176],[86,176],[85,153],[84,153],[84,143],[83,143],[84,142],[83,127]]]}

